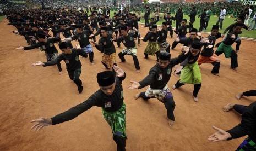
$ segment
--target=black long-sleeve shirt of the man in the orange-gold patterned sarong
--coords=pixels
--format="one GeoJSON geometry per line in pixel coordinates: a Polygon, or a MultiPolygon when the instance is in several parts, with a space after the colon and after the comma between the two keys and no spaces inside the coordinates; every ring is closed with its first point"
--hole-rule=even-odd
{"type": "Polygon", "coordinates": [[[115,45],[112,42],[112,35],[107,34],[107,37],[101,37],[98,45],[95,47],[106,55],[116,53],[115,45]]]}

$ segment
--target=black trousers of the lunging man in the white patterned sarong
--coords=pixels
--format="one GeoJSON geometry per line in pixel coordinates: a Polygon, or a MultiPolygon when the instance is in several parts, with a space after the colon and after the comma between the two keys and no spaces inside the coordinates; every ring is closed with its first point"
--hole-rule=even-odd
{"type": "MultiPolygon", "coordinates": [[[[144,100],[149,100],[150,98],[155,98],[153,97],[146,97],[145,92],[140,92],[140,97],[142,97],[144,100]]],[[[167,109],[167,117],[168,119],[171,119],[173,121],[175,121],[175,117],[174,117],[174,109],[175,109],[175,102],[173,100],[173,97],[167,97],[164,102],[165,104],[165,108],[167,109]]]]}

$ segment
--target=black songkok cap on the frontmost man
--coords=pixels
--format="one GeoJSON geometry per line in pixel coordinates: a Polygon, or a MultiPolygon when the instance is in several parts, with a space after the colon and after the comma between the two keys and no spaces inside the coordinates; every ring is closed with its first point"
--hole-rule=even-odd
{"type": "Polygon", "coordinates": [[[104,71],[97,74],[97,82],[100,86],[109,86],[115,83],[115,76],[112,71],[104,71]]]}

